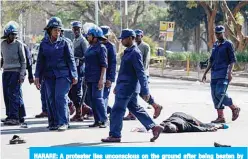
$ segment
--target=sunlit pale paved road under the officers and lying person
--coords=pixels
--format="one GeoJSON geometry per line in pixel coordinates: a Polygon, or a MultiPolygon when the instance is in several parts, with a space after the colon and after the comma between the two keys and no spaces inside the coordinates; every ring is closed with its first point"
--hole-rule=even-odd
{"type": "MultiPolygon", "coordinates": [[[[156,101],[164,106],[163,113],[156,120],[160,123],[173,112],[182,111],[190,113],[203,122],[209,122],[216,117],[213,109],[210,87],[208,84],[197,82],[167,80],[152,78],[151,93],[156,101]]],[[[1,90],[2,91],[2,90],[1,90]]],[[[92,121],[72,123],[72,128],[66,132],[50,132],[46,129],[47,119],[35,119],[34,115],[40,113],[41,102],[39,91],[34,85],[27,82],[23,85],[24,100],[27,109],[28,129],[19,126],[7,127],[1,125],[1,158],[15,159],[28,158],[29,147],[32,146],[213,146],[217,141],[233,146],[248,146],[248,89],[244,87],[229,88],[229,95],[241,107],[240,118],[231,122],[231,111],[225,109],[227,122],[230,125],[228,130],[208,133],[184,133],[184,134],[162,134],[155,142],[150,143],[152,136],[148,133],[131,132],[131,129],[141,127],[138,121],[124,122],[122,143],[102,144],[100,139],[108,135],[108,129],[88,128],[92,121]],[[27,140],[26,144],[9,145],[9,139],[18,134],[27,140]]],[[[1,99],[2,92],[1,92],[1,99]]],[[[113,104],[111,94],[110,104],[113,104]]],[[[147,105],[140,99],[140,104],[147,108],[147,105]]],[[[153,110],[147,109],[152,115],[153,110]]],[[[1,118],[5,117],[5,108],[1,100],[1,118]]]]}

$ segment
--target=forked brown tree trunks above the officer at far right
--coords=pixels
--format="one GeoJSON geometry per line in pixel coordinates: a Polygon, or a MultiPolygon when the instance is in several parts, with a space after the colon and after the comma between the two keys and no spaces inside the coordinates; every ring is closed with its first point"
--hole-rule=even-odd
{"type": "MultiPolygon", "coordinates": [[[[229,2],[230,3],[230,2],[229,2]]],[[[242,7],[247,7],[248,1],[239,1],[235,3],[230,3],[230,8],[233,8],[233,11],[230,10],[226,0],[221,2],[217,1],[199,1],[200,4],[207,14],[208,18],[208,46],[212,47],[215,42],[214,35],[214,26],[215,18],[218,9],[221,6],[222,14],[224,17],[224,25],[227,29],[227,34],[234,40],[234,44],[237,50],[243,51],[248,45],[248,37],[244,36],[242,33],[242,25],[237,22],[237,14],[241,11],[242,7]],[[220,6],[219,6],[220,5],[220,6]],[[235,7],[234,7],[235,6],[235,7]]]]}

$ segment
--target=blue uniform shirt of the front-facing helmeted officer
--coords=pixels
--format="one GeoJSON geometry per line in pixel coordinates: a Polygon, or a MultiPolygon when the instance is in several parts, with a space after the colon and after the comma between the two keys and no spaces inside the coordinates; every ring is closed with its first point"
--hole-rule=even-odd
{"type": "Polygon", "coordinates": [[[72,77],[77,78],[76,63],[69,43],[59,37],[51,43],[48,37],[40,44],[35,77],[72,77]]]}

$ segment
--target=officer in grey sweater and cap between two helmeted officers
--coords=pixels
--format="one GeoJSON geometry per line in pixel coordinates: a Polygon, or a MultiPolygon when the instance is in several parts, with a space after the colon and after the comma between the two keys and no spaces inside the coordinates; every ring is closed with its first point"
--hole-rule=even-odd
{"type": "Polygon", "coordinates": [[[69,97],[73,101],[76,107],[76,114],[72,117],[71,121],[83,121],[82,105],[80,105],[80,101],[82,99],[82,94],[83,94],[82,84],[83,84],[84,69],[85,69],[84,54],[87,48],[89,47],[89,43],[81,33],[81,28],[82,28],[81,22],[74,21],[71,23],[71,25],[75,37],[73,40],[73,46],[74,46],[74,57],[78,72],[78,83],[71,88],[69,93],[69,97]]]}

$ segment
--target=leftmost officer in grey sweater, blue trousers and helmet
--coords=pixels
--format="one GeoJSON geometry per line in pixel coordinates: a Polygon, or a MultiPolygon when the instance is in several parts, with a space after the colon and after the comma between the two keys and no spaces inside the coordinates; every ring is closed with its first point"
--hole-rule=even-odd
{"type": "Polygon", "coordinates": [[[4,40],[1,42],[3,96],[7,116],[5,125],[19,125],[25,116],[21,86],[25,78],[26,58],[23,44],[16,39],[17,34],[18,24],[11,21],[4,28],[4,40]]]}

